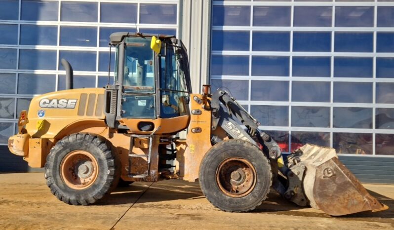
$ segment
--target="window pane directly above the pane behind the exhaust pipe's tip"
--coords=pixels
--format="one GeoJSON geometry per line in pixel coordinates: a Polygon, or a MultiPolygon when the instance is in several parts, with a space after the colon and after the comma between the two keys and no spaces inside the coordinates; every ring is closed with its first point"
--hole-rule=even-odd
{"type": "Polygon", "coordinates": [[[61,26],[60,45],[96,46],[97,28],[79,27],[79,26],[61,26]]]}

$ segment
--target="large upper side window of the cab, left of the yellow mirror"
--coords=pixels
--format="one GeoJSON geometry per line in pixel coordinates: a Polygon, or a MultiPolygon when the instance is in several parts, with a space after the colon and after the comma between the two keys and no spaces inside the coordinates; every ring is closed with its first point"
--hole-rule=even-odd
{"type": "Polygon", "coordinates": [[[154,53],[150,39],[126,38],[123,86],[128,92],[155,92],[154,53]]]}

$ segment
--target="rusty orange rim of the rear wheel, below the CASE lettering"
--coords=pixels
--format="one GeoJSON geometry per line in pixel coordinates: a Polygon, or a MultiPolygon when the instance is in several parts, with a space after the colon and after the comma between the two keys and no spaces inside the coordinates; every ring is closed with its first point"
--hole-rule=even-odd
{"type": "Polygon", "coordinates": [[[68,153],[60,164],[60,176],[64,183],[76,190],[90,187],[97,179],[96,158],[86,151],[76,150],[68,153]]]}

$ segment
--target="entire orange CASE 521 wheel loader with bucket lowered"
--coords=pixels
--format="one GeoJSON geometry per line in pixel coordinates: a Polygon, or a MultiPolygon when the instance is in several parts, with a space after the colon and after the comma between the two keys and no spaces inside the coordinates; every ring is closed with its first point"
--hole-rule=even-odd
{"type": "Polygon", "coordinates": [[[33,98],[8,140],[11,153],[45,167],[59,200],[88,205],[118,183],[198,179],[209,202],[229,212],[253,210],[271,188],[333,216],[388,208],[334,149],[307,144],[284,159],[228,89],[203,85],[193,94],[181,40],[127,32],[110,40],[114,84],[73,89],[72,67],[62,60],[66,90],[33,98]],[[177,135],[183,130],[186,139],[177,135]]]}

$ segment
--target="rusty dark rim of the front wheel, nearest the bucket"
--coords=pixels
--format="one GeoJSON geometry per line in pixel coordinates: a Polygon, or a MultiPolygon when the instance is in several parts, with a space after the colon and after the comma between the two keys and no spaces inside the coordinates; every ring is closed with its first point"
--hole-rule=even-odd
{"type": "Polygon", "coordinates": [[[227,158],[216,170],[216,183],[226,195],[242,197],[253,191],[256,185],[256,170],[246,159],[227,158]]]}

